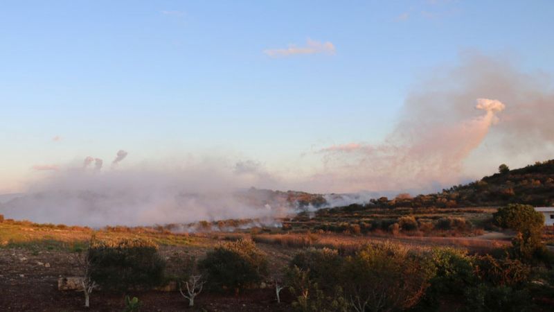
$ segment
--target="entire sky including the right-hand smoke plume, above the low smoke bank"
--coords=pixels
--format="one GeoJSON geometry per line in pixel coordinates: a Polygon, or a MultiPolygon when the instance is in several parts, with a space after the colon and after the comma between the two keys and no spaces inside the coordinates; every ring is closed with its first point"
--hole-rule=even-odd
{"type": "Polygon", "coordinates": [[[553,15],[548,0],[2,1],[0,193],[85,157],[317,192],[429,191],[553,158],[546,121],[509,126],[553,115],[553,15]]]}

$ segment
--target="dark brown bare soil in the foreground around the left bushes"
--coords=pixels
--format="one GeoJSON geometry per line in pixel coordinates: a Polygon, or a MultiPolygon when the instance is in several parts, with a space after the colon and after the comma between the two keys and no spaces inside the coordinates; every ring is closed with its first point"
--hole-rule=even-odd
{"type": "MultiPolygon", "coordinates": [[[[282,266],[294,250],[259,245],[267,252],[270,266],[282,266]]],[[[160,252],[171,257],[187,252],[201,256],[206,249],[163,246],[160,252]]],[[[0,311],[123,311],[123,295],[95,291],[91,309],[85,309],[84,296],[76,291],[58,291],[57,279],[78,274],[74,254],[60,251],[31,251],[23,248],[0,249],[0,311]]],[[[244,291],[238,296],[201,293],[195,307],[179,292],[143,291],[129,293],[139,297],[141,311],[289,311],[292,297],[283,291],[277,304],[274,289],[244,291]]]]}

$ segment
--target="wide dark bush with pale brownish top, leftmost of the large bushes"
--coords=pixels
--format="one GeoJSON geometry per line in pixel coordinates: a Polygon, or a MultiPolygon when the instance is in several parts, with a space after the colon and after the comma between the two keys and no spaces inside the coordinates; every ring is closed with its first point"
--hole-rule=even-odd
{"type": "Polygon", "coordinates": [[[91,279],[112,291],[159,286],[166,263],[157,250],[156,244],[143,239],[93,239],[87,254],[91,279]]]}

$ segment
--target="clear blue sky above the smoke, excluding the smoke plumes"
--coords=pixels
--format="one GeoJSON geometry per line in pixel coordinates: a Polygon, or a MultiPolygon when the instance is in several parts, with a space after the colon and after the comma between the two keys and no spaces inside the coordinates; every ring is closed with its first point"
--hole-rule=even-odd
{"type": "Polygon", "coordinates": [[[35,164],[119,149],[131,163],[217,150],[316,170],[314,150],[382,141],[413,85],[461,51],[553,74],[553,13],[553,1],[3,1],[0,191],[35,164]],[[264,52],[307,40],[334,51],[264,52]]]}

